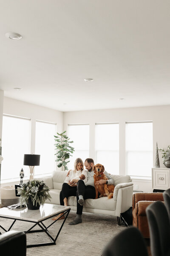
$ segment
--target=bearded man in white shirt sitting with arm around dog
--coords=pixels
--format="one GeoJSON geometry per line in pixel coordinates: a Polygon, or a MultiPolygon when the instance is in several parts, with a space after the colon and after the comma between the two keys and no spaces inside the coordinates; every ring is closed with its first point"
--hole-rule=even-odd
{"type": "MultiPolygon", "coordinates": [[[[84,183],[83,180],[79,180],[77,183],[77,216],[76,218],[68,223],[68,225],[76,225],[82,223],[82,209],[85,199],[94,199],[96,197],[96,191],[94,188],[94,160],[92,158],[87,158],[85,160],[85,168],[88,170],[88,181],[84,183]]],[[[108,184],[113,185],[114,181],[111,176],[105,171],[106,177],[108,178],[108,184]]],[[[96,181],[97,184],[105,184],[106,180],[96,181]]]]}

